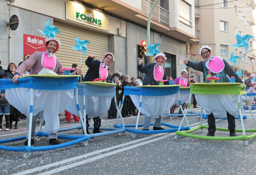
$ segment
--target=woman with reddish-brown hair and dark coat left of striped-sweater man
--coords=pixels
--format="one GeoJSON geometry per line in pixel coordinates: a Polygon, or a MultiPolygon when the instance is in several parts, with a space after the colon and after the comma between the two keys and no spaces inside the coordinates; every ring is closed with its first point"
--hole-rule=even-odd
{"type": "MultiPolygon", "coordinates": [[[[17,69],[17,66],[14,63],[10,63],[8,65],[8,69],[5,70],[4,72],[4,76],[8,77],[10,79],[13,78],[13,74],[15,72],[15,70],[17,69]]],[[[10,129],[12,129],[13,127],[13,120],[15,120],[15,125],[14,125],[14,129],[18,129],[18,121],[19,121],[19,111],[13,107],[12,105],[10,105],[10,129]]]]}

